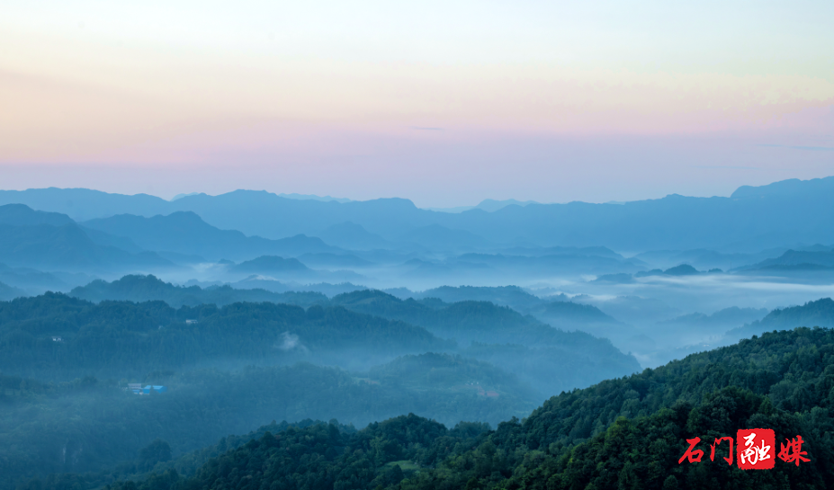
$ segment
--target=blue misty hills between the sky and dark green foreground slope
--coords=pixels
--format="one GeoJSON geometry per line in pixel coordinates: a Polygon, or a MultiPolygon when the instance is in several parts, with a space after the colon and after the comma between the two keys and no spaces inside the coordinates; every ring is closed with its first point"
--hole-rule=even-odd
{"type": "Polygon", "coordinates": [[[265,427],[354,437],[412,414],[488,433],[606,380],[834,326],[832,186],[452,211],[0,192],[0,485],[188,477],[265,427]],[[801,218],[767,218],[785,206],[801,218]]]}

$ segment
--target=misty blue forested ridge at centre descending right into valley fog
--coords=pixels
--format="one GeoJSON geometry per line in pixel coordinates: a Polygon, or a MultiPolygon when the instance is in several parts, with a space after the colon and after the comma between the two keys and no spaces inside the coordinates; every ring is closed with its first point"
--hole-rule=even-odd
{"type": "Polygon", "coordinates": [[[464,355],[515,372],[543,396],[640,370],[632,355],[605,338],[566,332],[487,301],[448,304],[436,298],[402,300],[378,290],[360,290],[338,295],[331,304],[401,319],[454,339],[466,347],[464,355]]]}

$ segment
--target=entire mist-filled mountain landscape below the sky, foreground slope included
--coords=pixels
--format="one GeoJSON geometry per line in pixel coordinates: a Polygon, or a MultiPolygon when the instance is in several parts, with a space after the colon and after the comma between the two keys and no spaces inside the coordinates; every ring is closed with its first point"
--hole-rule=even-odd
{"type": "Polygon", "coordinates": [[[459,209],[0,191],[0,490],[677,488],[707,419],[803,431],[814,463],[767,478],[832,484],[831,223],[834,177],[459,209]],[[626,433],[666,446],[626,471],[626,433]]]}

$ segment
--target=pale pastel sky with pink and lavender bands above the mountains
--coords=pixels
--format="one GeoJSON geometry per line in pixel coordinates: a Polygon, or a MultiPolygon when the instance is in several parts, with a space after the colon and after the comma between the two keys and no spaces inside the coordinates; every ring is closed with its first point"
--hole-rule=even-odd
{"type": "Polygon", "coordinates": [[[424,207],[834,175],[834,2],[2,3],[0,187],[424,207]]]}

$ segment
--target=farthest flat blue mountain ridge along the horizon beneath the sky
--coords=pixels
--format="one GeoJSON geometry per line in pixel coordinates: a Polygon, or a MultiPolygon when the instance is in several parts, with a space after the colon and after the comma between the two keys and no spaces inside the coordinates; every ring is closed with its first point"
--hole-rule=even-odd
{"type": "Polygon", "coordinates": [[[438,225],[488,242],[537,245],[604,245],[616,250],[721,247],[751,250],[792,243],[834,243],[834,177],[740,187],[731,197],[677,194],[624,204],[528,204],[493,212],[417,209],[403,199],[336,202],[285,199],[270,192],[199,194],[173,202],[138,194],[82,189],[0,192],[0,203],[23,203],[76,219],[130,213],[151,217],[193,211],[214,227],[246,235],[283,238],[351,222],[390,240],[438,225]]]}

